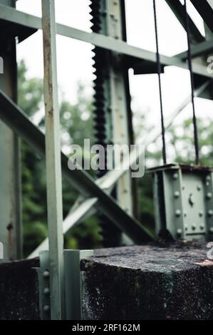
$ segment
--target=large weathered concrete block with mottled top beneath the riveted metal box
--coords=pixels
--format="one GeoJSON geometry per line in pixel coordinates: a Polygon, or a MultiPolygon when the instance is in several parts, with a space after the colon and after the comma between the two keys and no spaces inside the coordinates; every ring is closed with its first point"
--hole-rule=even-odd
{"type": "Polygon", "coordinates": [[[203,247],[101,249],[81,262],[83,319],[213,319],[203,247]]]}

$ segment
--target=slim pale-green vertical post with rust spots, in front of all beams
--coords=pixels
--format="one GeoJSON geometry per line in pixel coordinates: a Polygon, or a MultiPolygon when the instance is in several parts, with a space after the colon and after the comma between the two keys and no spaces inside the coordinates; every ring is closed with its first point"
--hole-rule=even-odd
{"type": "Polygon", "coordinates": [[[51,319],[57,320],[63,319],[64,313],[64,261],[61,138],[58,110],[54,0],[42,0],[42,16],[51,319]]]}

